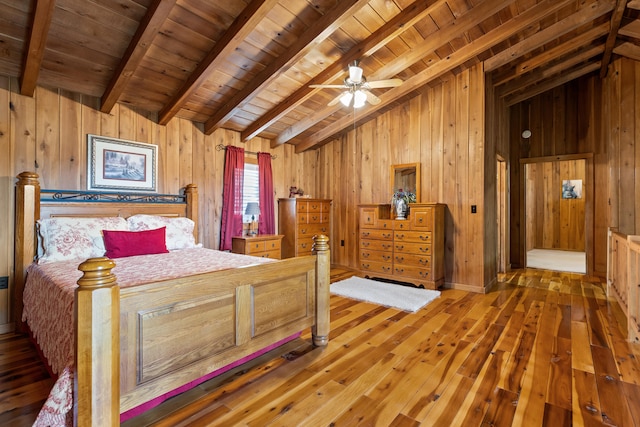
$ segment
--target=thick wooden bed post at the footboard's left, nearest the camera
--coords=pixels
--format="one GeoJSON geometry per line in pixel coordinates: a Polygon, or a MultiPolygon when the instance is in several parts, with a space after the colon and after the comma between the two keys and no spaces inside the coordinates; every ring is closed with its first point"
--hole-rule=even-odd
{"type": "Polygon", "coordinates": [[[106,257],[78,266],[75,425],[120,425],[120,288],[106,257]],[[79,326],[80,325],[80,326],[79,326]]]}

